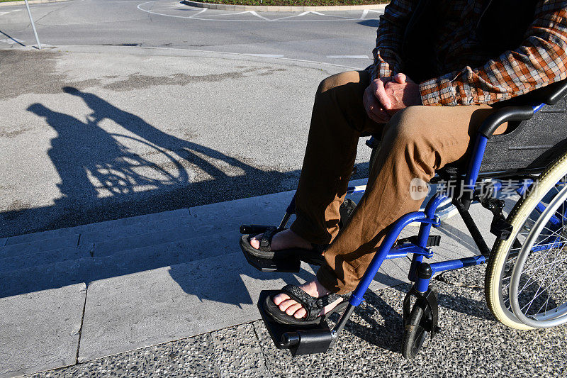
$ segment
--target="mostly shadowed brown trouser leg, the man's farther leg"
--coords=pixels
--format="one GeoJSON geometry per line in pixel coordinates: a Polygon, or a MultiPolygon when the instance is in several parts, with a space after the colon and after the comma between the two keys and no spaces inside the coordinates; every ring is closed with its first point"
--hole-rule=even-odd
{"type": "Polygon", "coordinates": [[[323,80],[315,95],[298,190],[296,221],[291,225],[311,243],[327,244],[339,231],[339,207],[363,130],[381,130],[364,111],[365,71],[343,72],[323,80]]]}

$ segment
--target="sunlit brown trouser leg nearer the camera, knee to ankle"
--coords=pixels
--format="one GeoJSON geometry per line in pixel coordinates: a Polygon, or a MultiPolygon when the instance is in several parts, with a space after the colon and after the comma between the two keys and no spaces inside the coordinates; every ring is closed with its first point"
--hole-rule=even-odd
{"type": "Polygon", "coordinates": [[[388,226],[420,209],[410,182],[429,182],[449,162],[464,159],[489,106],[411,106],[393,116],[383,133],[366,193],[351,221],[325,252],[317,277],[327,289],[352,291],[374,257],[388,226]]]}

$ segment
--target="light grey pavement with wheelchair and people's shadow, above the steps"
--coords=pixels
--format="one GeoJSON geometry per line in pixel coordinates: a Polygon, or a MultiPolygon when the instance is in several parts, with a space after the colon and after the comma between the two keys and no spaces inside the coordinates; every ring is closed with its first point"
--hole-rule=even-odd
{"type": "Polygon", "coordinates": [[[344,70],[123,46],[0,50],[0,238],[295,189],[315,89],[344,70]]]}

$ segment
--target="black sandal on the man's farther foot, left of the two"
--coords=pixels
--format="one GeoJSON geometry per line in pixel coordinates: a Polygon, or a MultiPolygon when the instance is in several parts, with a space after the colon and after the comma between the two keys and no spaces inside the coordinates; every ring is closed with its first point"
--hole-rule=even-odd
{"type": "Polygon", "coordinates": [[[250,245],[250,240],[255,235],[245,234],[240,237],[240,248],[245,253],[261,259],[273,260],[283,259],[286,257],[296,257],[299,260],[308,262],[313,265],[322,265],[325,259],[322,252],[327,248],[327,245],[313,244],[313,250],[305,250],[303,248],[289,248],[287,250],[271,250],[271,239],[274,238],[276,233],[283,231],[277,227],[267,228],[260,240],[260,248],[256,249],[250,245]]]}

